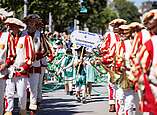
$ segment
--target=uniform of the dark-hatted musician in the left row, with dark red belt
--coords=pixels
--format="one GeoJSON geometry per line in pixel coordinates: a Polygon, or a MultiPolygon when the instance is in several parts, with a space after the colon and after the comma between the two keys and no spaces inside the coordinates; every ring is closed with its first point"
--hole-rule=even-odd
{"type": "Polygon", "coordinates": [[[43,38],[43,35],[40,31],[36,31],[34,36],[32,36],[33,44],[34,44],[34,52],[35,52],[35,60],[30,68],[30,106],[29,109],[37,110],[37,97],[38,94],[41,97],[42,87],[42,79],[43,79],[43,71],[42,70],[42,60],[45,56],[48,56],[49,59],[53,59],[51,48],[49,47],[47,41],[43,38]],[[41,76],[42,74],[42,76],[41,76]]]}

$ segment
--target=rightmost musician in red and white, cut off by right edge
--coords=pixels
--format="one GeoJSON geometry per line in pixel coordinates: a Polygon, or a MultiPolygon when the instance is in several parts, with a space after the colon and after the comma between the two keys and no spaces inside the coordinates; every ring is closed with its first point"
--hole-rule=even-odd
{"type": "Polygon", "coordinates": [[[151,10],[147,13],[144,20],[147,20],[147,28],[153,34],[151,39],[143,44],[138,49],[135,57],[135,63],[132,71],[136,77],[136,83],[139,85],[141,91],[140,110],[141,112],[150,112],[154,115],[157,114],[156,105],[156,84],[157,84],[157,10],[151,10]],[[148,18],[149,17],[149,18],[148,18]]]}

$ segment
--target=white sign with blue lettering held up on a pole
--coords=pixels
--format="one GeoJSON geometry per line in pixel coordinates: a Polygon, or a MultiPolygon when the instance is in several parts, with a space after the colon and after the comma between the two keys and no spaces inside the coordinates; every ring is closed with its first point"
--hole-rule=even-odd
{"type": "Polygon", "coordinates": [[[79,48],[80,46],[93,49],[96,48],[100,42],[100,36],[98,34],[81,30],[73,31],[70,38],[75,49],[79,48]]]}

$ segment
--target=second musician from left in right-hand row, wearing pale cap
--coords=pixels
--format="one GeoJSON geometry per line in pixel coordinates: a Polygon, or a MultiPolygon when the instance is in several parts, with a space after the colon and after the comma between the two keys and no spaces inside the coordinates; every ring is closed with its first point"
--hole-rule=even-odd
{"type": "Polygon", "coordinates": [[[119,27],[120,41],[116,49],[116,68],[115,72],[119,78],[116,84],[116,113],[117,115],[132,115],[134,108],[134,87],[130,81],[130,61],[132,42],[130,39],[129,25],[119,27]]]}

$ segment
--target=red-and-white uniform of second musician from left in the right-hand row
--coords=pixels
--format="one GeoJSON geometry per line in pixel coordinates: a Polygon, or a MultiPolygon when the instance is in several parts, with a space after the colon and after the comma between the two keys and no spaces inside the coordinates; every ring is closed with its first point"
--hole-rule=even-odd
{"type": "MultiPolygon", "coordinates": [[[[131,40],[123,40],[118,43],[116,53],[116,71],[129,75],[130,61],[129,57],[131,54],[131,40]],[[124,69],[125,68],[125,69],[124,69]]],[[[126,77],[126,76],[122,76],[126,77]]],[[[125,80],[125,78],[123,78],[125,80]]],[[[134,91],[131,88],[123,89],[120,84],[117,85],[116,89],[116,113],[117,115],[133,115],[134,107],[134,91]]]]}

